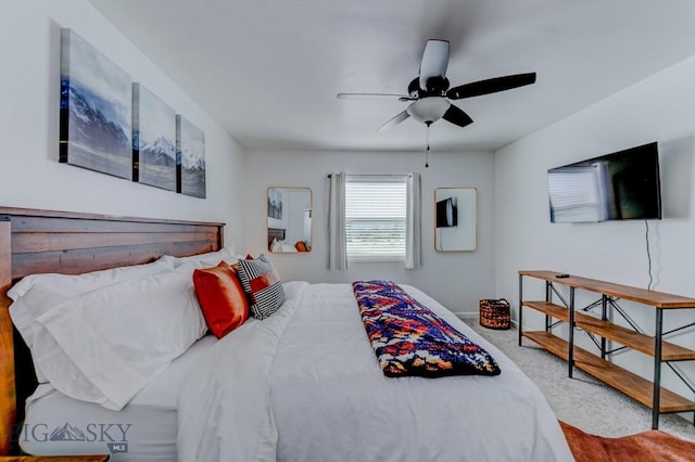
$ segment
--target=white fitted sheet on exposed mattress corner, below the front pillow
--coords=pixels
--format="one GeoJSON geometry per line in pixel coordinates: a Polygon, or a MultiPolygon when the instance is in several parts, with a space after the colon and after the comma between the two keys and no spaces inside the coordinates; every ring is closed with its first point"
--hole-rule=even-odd
{"type": "MultiPolygon", "coordinates": [[[[109,442],[126,442],[127,447],[116,449],[127,449],[127,452],[112,453],[112,461],[176,461],[176,407],[181,384],[191,368],[207,355],[216,342],[212,335],[198,341],[122,411],[78,401],[48,384],[40,385],[27,400],[25,426],[20,439],[22,449],[31,454],[110,453],[109,442]],[[64,427],[66,423],[91,441],[48,440],[55,428],[64,427]]],[[[73,435],[79,437],[76,432],[73,435]]]]}

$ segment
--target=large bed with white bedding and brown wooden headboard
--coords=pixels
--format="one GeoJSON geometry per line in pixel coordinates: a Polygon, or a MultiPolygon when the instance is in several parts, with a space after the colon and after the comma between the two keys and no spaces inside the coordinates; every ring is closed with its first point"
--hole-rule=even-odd
{"type": "Polygon", "coordinates": [[[16,450],[18,439],[28,452],[101,452],[114,461],[572,460],[530,380],[439,303],[406,285],[485,348],[502,374],[386,377],[351,284],[294,281],[283,283],[286,301],[275,315],[247,321],[222,339],[202,336],[122,409],[76,400],[51,383],[35,389],[30,357],[16,333],[12,341],[7,292],[13,283],[33,273],[222,252],[223,226],[1,207],[0,217],[2,452],[16,450]],[[23,423],[18,438],[15,421],[23,423]],[[50,441],[56,433],[68,437],[50,441]]]}

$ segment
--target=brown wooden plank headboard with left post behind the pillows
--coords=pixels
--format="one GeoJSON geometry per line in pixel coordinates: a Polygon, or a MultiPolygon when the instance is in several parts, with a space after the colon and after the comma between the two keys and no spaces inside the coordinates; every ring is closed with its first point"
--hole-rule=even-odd
{"type": "Polygon", "coordinates": [[[7,292],[14,282],[27,274],[75,274],[223,246],[224,223],[0,207],[0,454],[10,452],[17,411],[21,416],[34,392],[26,380],[34,375],[30,356],[8,311],[7,292]]]}

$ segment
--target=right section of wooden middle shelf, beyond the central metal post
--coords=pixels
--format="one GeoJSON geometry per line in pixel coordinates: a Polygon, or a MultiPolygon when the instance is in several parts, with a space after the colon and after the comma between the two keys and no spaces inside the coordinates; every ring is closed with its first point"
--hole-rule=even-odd
{"type": "MultiPolygon", "coordinates": [[[[592,332],[602,337],[617,342],[620,345],[624,345],[645,355],[649,355],[650,357],[655,356],[654,350],[656,341],[650,335],[641,334],[579,311],[574,312],[574,325],[583,329],[584,331],[592,332]]],[[[662,361],[683,361],[690,359],[695,359],[694,350],[668,342],[661,342],[662,361]]]]}

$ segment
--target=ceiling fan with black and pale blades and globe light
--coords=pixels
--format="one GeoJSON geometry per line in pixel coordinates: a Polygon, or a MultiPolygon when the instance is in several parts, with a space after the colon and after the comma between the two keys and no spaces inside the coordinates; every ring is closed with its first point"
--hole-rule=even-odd
{"type": "Polygon", "coordinates": [[[377,131],[399,125],[408,117],[428,127],[440,118],[459,127],[466,127],[473,120],[450,100],[496,93],[535,82],[535,73],[528,73],[478,80],[450,88],[446,78],[447,66],[448,40],[428,40],[422,52],[419,75],[408,85],[408,94],[338,93],[338,98],[390,97],[397,98],[399,101],[410,101],[405,111],[387,121],[377,131]]]}

